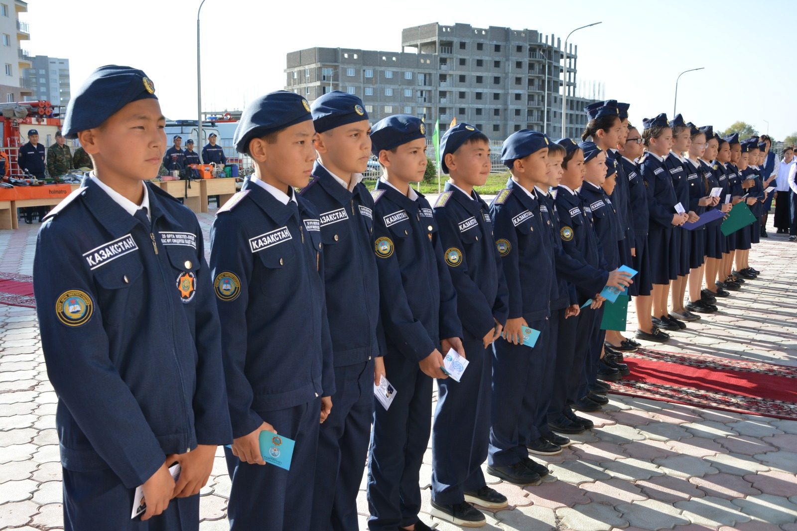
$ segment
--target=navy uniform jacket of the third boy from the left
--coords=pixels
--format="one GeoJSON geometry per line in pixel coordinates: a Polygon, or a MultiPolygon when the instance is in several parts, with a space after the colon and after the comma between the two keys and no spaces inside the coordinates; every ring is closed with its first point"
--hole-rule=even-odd
{"type": "Polygon", "coordinates": [[[317,162],[300,195],[319,212],[335,367],[380,356],[385,344],[374,256],[374,200],[363,183],[352,193],[317,162]]]}

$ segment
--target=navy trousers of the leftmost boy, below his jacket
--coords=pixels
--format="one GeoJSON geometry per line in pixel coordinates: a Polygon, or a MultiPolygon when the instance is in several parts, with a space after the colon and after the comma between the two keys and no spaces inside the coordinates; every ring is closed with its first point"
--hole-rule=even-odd
{"type": "MultiPolygon", "coordinates": [[[[164,456],[165,458],[165,456],[164,456]]],[[[196,531],[199,529],[199,495],[175,498],[169,507],[147,521],[130,519],[135,489],[128,489],[109,468],[64,471],[64,529],[130,531],[196,531]]]]}

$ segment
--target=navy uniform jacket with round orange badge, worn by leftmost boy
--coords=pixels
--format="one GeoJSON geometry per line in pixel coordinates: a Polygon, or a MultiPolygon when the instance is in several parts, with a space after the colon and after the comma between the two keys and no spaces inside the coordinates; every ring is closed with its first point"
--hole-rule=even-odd
{"type": "Polygon", "coordinates": [[[87,179],[45,218],[33,263],[61,463],[127,488],[166,454],[232,441],[202,230],[147,193],[151,228],[87,179]]]}

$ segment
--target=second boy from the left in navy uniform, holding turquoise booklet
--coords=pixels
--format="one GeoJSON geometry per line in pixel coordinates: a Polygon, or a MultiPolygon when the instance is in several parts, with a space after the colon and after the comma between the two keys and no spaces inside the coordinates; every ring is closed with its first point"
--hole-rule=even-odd
{"type": "Polygon", "coordinates": [[[210,229],[234,436],[225,449],[233,530],[310,529],[319,419],[335,394],[319,217],[293,191],[307,186],[315,134],[307,100],[293,92],[247,105],[234,141],[255,173],[210,229]],[[260,441],[279,454],[281,437],[296,442],[290,470],[261,456],[260,441]]]}

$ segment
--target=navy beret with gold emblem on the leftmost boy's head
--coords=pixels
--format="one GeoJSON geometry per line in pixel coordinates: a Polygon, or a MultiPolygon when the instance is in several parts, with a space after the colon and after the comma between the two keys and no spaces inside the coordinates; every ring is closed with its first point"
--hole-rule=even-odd
{"type": "Polygon", "coordinates": [[[66,108],[62,131],[69,139],[77,133],[100,127],[125,105],[155,98],[155,84],[141,70],[129,66],[106,65],[94,70],[80,85],[66,108]]]}

